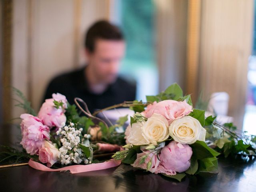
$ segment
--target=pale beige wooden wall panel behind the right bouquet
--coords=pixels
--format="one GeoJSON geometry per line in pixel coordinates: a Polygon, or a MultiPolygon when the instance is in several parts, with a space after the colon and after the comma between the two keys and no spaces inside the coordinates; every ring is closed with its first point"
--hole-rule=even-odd
{"type": "Polygon", "coordinates": [[[253,0],[202,1],[199,90],[206,96],[228,92],[229,114],[239,118],[246,102],[253,12],[253,0]]]}

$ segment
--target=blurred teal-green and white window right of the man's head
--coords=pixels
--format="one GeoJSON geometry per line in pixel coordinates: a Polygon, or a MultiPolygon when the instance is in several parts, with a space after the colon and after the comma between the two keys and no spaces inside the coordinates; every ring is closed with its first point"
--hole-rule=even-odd
{"type": "Polygon", "coordinates": [[[120,26],[126,39],[126,56],[120,74],[137,83],[136,99],[158,93],[154,14],[151,0],[116,0],[110,20],[120,26]]]}

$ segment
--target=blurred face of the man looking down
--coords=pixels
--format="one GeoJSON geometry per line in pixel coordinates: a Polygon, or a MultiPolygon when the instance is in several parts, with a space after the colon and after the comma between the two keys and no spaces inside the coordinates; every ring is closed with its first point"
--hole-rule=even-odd
{"type": "Polygon", "coordinates": [[[125,43],[123,40],[96,40],[94,52],[86,51],[88,63],[98,82],[111,84],[117,76],[125,43]]]}

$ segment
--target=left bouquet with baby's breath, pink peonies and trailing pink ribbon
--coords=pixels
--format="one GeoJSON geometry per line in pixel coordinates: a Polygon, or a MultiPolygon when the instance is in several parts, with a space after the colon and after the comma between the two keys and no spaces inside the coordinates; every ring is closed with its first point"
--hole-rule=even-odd
{"type": "MultiPolygon", "coordinates": [[[[124,135],[117,134],[114,129],[122,126],[126,121],[125,118],[108,127],[104,121],[90,114],[85,103],[86,110],[78,104],[78,100],[83,102],[82,100],[75,99],[78,108],[90,117],[79,114],[76,106],[70,105],[66,97],[59,93],[52,94],[52,98],[46,99],[38,115],[36,115],[23,94],[17,89],[14,89],[14,91],[23,100],[17,106],[28,112],[20,115],[22,119],[20,123],[22,134],[20,144],[22,144],[25,152],[5,146],[7,150],[1,152],[0,155],[5,154],[7,157],[0,161],[8,158],[14,160],[16,158],[16,162],[20,159],[25,161],[30,159],[28,164],[39,170],[50,170],[48,168],[53,166],[75,173],[86,171],[88,166],[78,169],[70,165],[92,165],[98,162],[93,158],[97,156],[95,154],[122,150],[122,147],[117,144],[120,144],[120,142],[124,144],[124,135]],[[93,122],[94,120],[97,120],[97,124],[93,122]],[[108,143],[104,141],[108,141],[108,143]],[[45,164],[48,168],[42,164],[45,164]]],[[[102,163],[101,169],[117,166],[118,164],[120,162],[111,160],[110,163],[102,163]]],[[[88,171],[98,169],[99,167],[96,166],[88,167],[88,171]]]]}

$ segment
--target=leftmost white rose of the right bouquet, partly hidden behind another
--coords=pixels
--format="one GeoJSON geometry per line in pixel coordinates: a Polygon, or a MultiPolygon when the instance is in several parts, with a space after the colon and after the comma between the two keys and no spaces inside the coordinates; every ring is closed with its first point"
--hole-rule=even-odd
{"type": "Polygon", "coordinates": [[[142,136],[142,126],[145,121],[133,123],[132,126],[128,125],[125,131],[126,143],[133,145],[147,145],[148,142],[142,136]]]}

